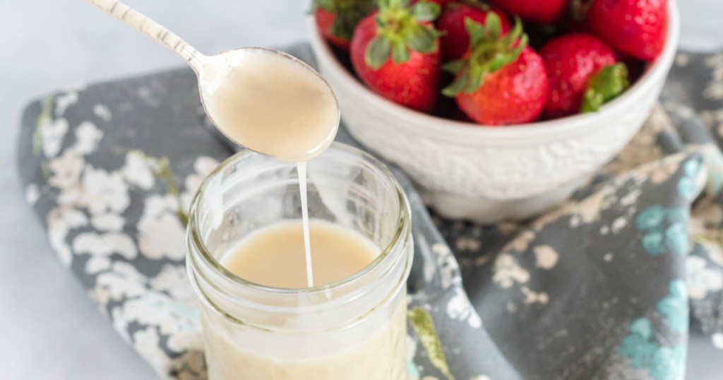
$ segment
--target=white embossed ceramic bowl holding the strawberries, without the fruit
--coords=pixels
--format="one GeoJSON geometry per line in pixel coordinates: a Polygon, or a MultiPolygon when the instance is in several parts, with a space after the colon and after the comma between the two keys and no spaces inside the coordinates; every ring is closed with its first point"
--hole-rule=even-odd
{"type": "Polygon", "coordinates": [[[661,56],[623,95],[592,114],[508,127],[432,117],[377,96],[330,51],[309,18],[321,74],[338,97],[349,132],[401,166],[443,216],[489,223],[524,219],[557,206],[640,129],[672,65],[680,33],[669,1],[661,56]]]}

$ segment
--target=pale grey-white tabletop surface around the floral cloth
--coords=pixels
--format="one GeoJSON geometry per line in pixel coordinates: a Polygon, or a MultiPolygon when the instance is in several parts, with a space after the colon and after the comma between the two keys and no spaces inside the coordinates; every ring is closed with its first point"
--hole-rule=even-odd
{"type": "MultiPolygon", "coordinates": [[[[127,1],[201,51],[306,38],[305,0],[127,1]]],[[[723,48],[723,2],[686,0],[683,44],[723,48]]],[[[85,1],[1,0],[0,378],[154,379],[48,247],[25,206],[14,143],[22,106],[64,85],[177,67],[181,61],[85,1]]],[[[717,380],[723,352],[693,338],[688,379],[717,380]]]]}

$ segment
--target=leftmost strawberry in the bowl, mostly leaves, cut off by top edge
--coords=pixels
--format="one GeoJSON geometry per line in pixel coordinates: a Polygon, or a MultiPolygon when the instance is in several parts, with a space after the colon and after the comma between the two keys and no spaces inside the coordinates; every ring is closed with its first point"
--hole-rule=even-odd
{"type": "Polygon", "coordinates": [[[375,0],[313,0],[317,29],[326,41],[348,50],[359,21],[376,9],[375,0]]]}

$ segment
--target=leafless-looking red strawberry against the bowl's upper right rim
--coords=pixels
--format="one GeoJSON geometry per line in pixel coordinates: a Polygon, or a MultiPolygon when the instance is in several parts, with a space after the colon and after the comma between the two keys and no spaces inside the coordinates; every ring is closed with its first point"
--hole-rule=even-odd
{"type": "Polygon", "coordinates": [[[667,5],[667,0],[594,0],[587,17],[610,46],[651,62],[665,45],[667,5]]]}

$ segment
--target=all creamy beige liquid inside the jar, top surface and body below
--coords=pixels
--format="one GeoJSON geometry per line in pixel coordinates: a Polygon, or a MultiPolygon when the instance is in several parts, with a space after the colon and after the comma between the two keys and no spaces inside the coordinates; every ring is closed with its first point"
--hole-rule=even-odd
{"type": "MultiPolygon", "coordinates": [[[[328,221],[312,219],[309,232],[317,284],[345,279],[364,269],[380,253],[358,232],[328,221]]],[[[221,256],[221,263],[257,284],[301,288],[307,284],[303,243],[301,222],[282,221],[244,237],[221,256]]],[[[403,291],[397,292],[364,319],[341,330],[310,334],[265,332],[231,324],[215,313],[205,314],[202,321],[210,379],[405,379],[404,296],[403,291]]],[[[345,312],[343,308],[335,311],[345,312]]],[[[288,318],[265,322],[283,330],[293,324],[288,318]]]]}

